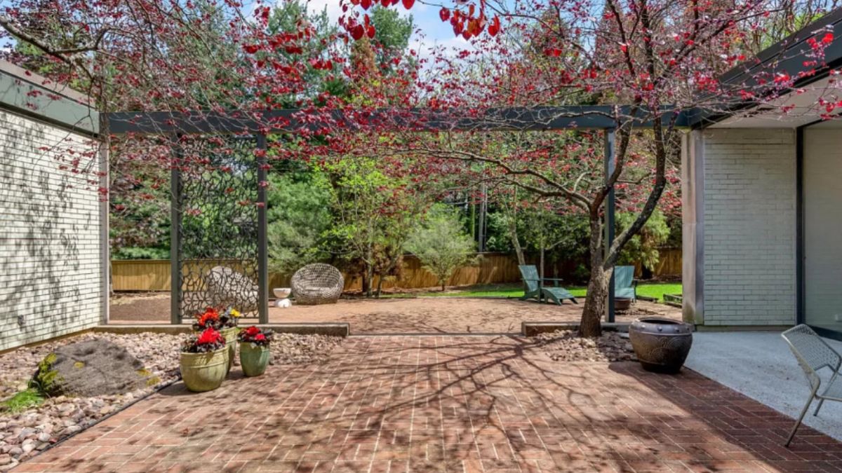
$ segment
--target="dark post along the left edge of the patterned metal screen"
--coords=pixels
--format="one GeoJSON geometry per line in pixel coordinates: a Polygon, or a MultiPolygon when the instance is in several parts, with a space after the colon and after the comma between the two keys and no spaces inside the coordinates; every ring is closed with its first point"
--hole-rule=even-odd
{"type": "Polygon", "coordinates": [[[179,136],[173,135],[173,165],[169,172],[169,322],[181,323],[181,165],[179,136]]]}

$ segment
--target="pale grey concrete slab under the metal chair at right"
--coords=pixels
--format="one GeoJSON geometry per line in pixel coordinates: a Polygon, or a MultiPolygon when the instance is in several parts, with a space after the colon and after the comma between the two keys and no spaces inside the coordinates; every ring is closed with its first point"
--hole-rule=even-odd
{"type": "MultiPolygon", "coordinates": [[[[842,353],[842,342],[828,343],[842,353]]],[[[695,332],[685,366],[793,419],[810,396],[807,379],[779,332],[695,332]]],[[[842,440],[842,402],[825,402],[818,417],[811,410],[804,423],[842,440]]]]}

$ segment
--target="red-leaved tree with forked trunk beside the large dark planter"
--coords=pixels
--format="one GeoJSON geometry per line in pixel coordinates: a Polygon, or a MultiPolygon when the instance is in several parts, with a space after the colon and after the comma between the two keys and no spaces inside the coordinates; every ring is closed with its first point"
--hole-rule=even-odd
{"type": "MultiPolygon", "coordinates": [[[[411,8],[413,1],[403,4],[411,8]]],[[[357,19],[360,14],[365,18],[361,12],[367,5],[351,0],[348,6],[344,27],[356,38],[357,19]]],[[[454,56],[436,57],[435,73],[424,77],[413,97],[416,105],[442,113],[416,120],[395,114],[399,120],[384,118],[370,130],[376,130],[379,143],[392,145],[392,154],[397,149],[424,155],[433,167],[453,160],[480,162],[486,165],[483,178],[563,199],[587,215],[590,279],[580,333],[596,336],[617,258],[675,179],[668,162],[678,154],[680,112],[730,111],[748,102],[791,113],[792,106],[779,98],[799,77],[746,58],[765,42],[759,37],[780,32],[781,17],[813,13],[821,14],[799,10],[797,3],[759,0],[727,5],[675,0],[456,2],[442,6],[440,17],[455,35],[472,42],[472,50],[457,53],[458,61],[454,56]],[[744,73],[720,80],[735,67],[744,73]],[[603,107],[590,108],[585,115],[578,109],[546,109],[578,104],[603,107]],[[501,107],[515,109],[501,116],[501,107]],[[608,175],[602,168],[603,134],[592,130],[547,133],[504,149],[477,146],[477,140],[468,140],[475,146],[464,146],[466,140],[454,138],[457,131],[482,135],[489,126],[549,128],[565,118],[586,126],[588,115],[612,123],[616,142],[608,175]],[[418,134],[424,125],[440,131],[418,134]],[[640,129],[645,133],[638,133],[640,129]],[[384,140],[384,132],[391,132],[392,138],[384,140]],[[636,215],[603,252],[603,214],[612,190],[622,194],[621,205],[636,215]]],[[[823,66],[823,49],[834,40],[826,31],[809,35],[811,61],[802,72],[807,75],[823,66]]],[[[830,92],[818,100],[819,106],[829,116],[839,101],[830,92]]]]}

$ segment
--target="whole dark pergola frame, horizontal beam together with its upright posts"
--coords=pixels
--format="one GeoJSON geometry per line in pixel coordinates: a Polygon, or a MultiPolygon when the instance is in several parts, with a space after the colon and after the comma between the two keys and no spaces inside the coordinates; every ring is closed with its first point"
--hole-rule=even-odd
{"type": "MultiPolygon", "coordinates": [[[[572,107],[540,107],[489,109],[482,115],[457,116],[453,112],[432,112],[422,109],[413,110],[378,110],[369,114],[367,120],[390,120],[396,129],[398,126],[411,127],[413,131],[541,131],[541,130],[601,130],[604,135],[605,176],[610,176],[614,170],[615,130],[618,127],[616,116],[624,120],[632,120],[633,125],[642,127],[651,125],[646,118],[649,116],[643,110],[637,116],[630,116],[631,112],[625,107],[609,105],[572,106],[572,107]]],[[[353,117],[344,112],[333,110],[319,112],[323,120],[335,124],[351,124],[353,117]]],[[[706,120],[707,114],[697,110],[670,111],[663,110],[660,114],[664,124],[674,120],[679,127],[692,127],[706,120]]],[[[266,134],[274,132],[295,132],[305,128],[313,129],[319,124],[306,120],[306,114],[297,109],[266,110],[252,113],[170,113],[170,112],[120,112],[108,116],[109,132],[115,135],[157,135],[173,136],[173,145],[178,136],[248,136],[253,139],[257,149],[266,149],[266,134]],[[269,124],[269,126],[267,126],[269,124]]],[[[179,159],[179,146],[173,146],[176,159],[179,159]]],[[[253,226],[256,230],[256,252],[253,253],[253,267],[256,268],[257,282],[257,313],[260,323],[269,322],[269,254],[267,240],[267,201],[265,189],[258,185],[264,182],[266,176],[266,157],[259,153],[250,166],[255,170],[253,195],[257,204],[257,211],[253,221],[240,221],[238,225],[253,226]]],[[[185,240],[184,232],[184,201],[195,196],[185,192],[185,182],[178,166],[171,171],[171,291],[172,306],[170,321],[181,323],[185,311],[184,284],[189,274],[189,252],[185,252],[185,244],[189,245],[189,238],[185,240]]],[[[205,192],[208,189],[205,189],[205,192]]],[[[212,189],[211,189],[212,190],[212,189]]],[[[615,224],[615,194],[610,189],[606,199],[605,210],[605,249],[614,240],[615,224]]],[[[607,322],[614,322],[614,278],[610,280],[607,322]]]]}

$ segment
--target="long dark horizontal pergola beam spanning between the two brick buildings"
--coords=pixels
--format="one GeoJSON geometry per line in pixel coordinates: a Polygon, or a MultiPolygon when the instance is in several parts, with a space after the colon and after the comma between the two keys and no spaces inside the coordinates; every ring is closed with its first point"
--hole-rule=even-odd
{"type": "MultiPolygon", "coordinates": [[[[334,126],[347,130],[379,126],[386,130],[411,131],[506,131],[506,130],[605,130],[621,120],[636,120],[635,126],[651,125],[646,110],[630,116],[628,107],[610,105],[571,107],[512,107],[488,109],[476,113],[454,110],[380,109],[371,113],[352,110],[280,109],[256,112],[115,112],[108,114],[109,133],[134,134],[237,134],[296,130],[318,131],[334,126]]],[[[661,120],[666,125],[676,118],[676,125],[687,126],[695,111],[671,111],[664,108],[661,120]]]]}

